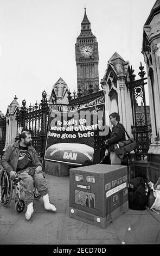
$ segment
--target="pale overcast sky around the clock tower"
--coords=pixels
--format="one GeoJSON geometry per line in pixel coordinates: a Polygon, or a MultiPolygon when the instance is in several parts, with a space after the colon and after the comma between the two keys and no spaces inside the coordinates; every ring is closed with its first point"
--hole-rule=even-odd
{"type": "MultiPolygon", "coordinates": [[[[84,7],[99,46],[99,81],[117,51],[138,78],[143,26],[155,0],[0,0],[2,113],[18,103],[40,102],[60,77],[76,90],[75,42],[84,7]]],[[[147,103],[148,99],[147,99],[147,103]]]]}

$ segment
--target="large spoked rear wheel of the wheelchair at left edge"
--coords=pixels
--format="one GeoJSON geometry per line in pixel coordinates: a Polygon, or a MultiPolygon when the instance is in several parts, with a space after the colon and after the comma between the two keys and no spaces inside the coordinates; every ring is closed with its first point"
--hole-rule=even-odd
{"type": "Polygon", "coordinates": [[[10,176],[5,170],[1,173],[1,194],[0,194],[0,200],[1,203],[7,207],[12,199],[12,192],[13,192],[13,184],[12,180],[10,179],[10,176]]]}

